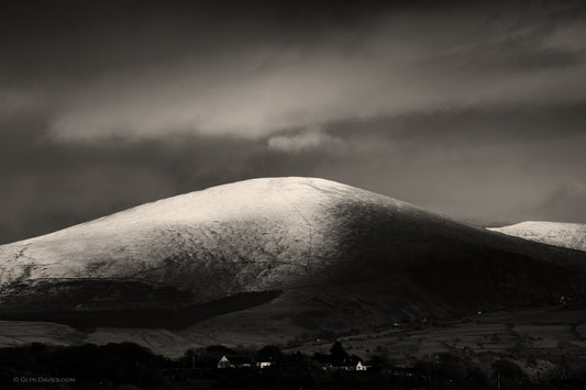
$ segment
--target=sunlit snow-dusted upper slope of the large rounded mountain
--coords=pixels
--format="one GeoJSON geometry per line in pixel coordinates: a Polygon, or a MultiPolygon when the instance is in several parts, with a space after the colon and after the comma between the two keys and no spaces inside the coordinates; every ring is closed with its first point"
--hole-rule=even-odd
{"type": "MultiPolygon", "coordinates": [[[[10,291],[23,283],[132,281],[192,293],[187,301],[173,302],[179,305],[280,289],[344,257],[344,237],[351,234],[351,222],[363,218],[364,207],[425,214],[407,203],[322,179],[246,180],[0,246],[0,287],[10,291]],[[344,208],[349,204],[355,210],[344,208]]],[[[90,299],[76,308],[101,302],[90,299]]],[[[117,307],[143,304],[152,302],[126,298],[117,307]]]]}

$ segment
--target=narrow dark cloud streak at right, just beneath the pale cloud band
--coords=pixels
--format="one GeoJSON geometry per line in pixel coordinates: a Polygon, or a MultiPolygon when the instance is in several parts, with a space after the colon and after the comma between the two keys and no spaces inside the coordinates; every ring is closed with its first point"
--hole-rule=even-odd
{"type": "Polygon", "coordinates": [[[585,134],[586,100],[567,104],[453,108],[332,122],[324,129],[350,136],[361,132],[414,143],[462,144],[548,142],[585,134]]]}

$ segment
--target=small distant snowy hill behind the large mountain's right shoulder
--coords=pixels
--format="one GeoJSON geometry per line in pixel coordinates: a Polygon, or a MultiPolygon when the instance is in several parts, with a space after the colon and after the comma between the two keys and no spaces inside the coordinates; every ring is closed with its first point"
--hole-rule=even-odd
{"type": "Polygon", "coordinates": [[[586,224],[527,221],[489,230],[538,243],[586,252],[586,224]]]}

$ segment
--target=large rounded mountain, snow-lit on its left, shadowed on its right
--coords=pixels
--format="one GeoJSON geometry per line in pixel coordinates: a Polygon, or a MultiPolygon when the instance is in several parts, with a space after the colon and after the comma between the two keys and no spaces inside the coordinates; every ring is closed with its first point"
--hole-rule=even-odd
{"type": "Polygon", "coordinates": [[[0,246],[0,320],[286,341],[578,299],[585,276],[581,252],[329,180],[266,178],[0,246]]]}

